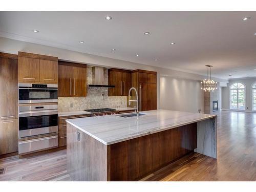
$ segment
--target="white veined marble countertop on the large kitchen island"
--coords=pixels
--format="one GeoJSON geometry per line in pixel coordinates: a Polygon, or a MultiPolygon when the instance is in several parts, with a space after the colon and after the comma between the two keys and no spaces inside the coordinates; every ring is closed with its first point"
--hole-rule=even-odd
{"type": "Polygon", "coordinates": [[[103,144],[110,145],[216,116],[169,110],[152,110],[141,113],[147,115],[124,118],[119,117],[121,114],[117,114],[66,121],[103,144]]]}

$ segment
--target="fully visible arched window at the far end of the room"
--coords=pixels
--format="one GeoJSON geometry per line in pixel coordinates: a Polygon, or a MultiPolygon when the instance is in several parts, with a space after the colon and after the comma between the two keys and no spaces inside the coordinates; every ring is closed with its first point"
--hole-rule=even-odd
{"type": "Polygon", "coordinates": [[[230,86],[230,109],[245,110],[245,86],[240,82],[230,86]]]}

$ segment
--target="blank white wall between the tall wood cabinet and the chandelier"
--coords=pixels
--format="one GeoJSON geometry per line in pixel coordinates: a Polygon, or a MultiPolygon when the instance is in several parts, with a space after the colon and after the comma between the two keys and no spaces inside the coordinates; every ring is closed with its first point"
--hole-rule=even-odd
{"type": "Polygon", "coordinates": [[[203,113],[203,91],[197,80],[160,77],[160,108],[203,113]]]}

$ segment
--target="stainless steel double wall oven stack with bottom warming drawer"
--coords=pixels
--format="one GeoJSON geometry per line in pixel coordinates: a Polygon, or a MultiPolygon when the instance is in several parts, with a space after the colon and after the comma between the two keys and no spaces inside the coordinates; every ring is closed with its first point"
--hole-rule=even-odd
{"type": "Polygon", "coordinates": [[[58,85],[19,83],[19,154],[58,146],[58,85]]]}

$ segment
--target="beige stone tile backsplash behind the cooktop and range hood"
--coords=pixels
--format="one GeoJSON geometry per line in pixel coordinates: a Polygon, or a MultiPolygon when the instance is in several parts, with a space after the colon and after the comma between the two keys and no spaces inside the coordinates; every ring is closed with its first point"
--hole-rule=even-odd
{"type": "MultiPolygon", "coordinates": [[[[87,67],[87,84],[92,83],[92,68],[87,67]]],[[[108,69],[104,69],[104,84],[108,84],[108,69]]],[[[87,97],[58,97],[58,111],[81,111],[95,108],[125,108],[126,96],[109,97],[108,88],[87,87],[87,97]]]]}

